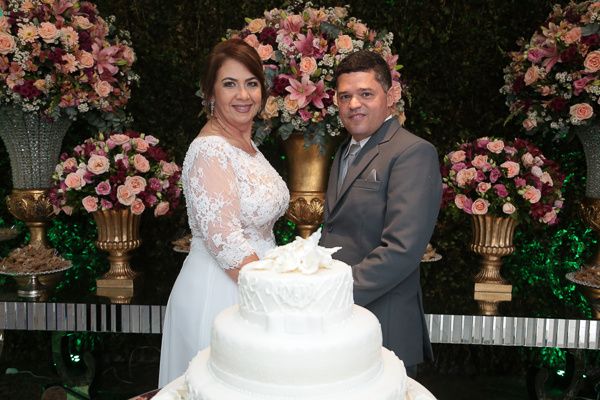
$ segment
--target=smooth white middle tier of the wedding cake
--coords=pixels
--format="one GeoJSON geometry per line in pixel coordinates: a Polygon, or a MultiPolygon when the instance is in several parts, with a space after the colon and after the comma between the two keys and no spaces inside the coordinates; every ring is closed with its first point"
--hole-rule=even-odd
{"type": "Polygon", "coordinates": [[[381,367],[379,321],[356,305],[343,322],[304,335],[266,331],[241,318],[238,306],[219,314],[213,325],[210,369],[243,391],[337,392],[372,380],[381,367]]]}

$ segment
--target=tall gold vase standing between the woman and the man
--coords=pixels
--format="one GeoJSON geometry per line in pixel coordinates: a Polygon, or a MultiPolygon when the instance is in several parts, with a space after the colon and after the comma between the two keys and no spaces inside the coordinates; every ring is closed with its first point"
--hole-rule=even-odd
{"type": "Polygon", "coordinates": [[[301,237],[307,238],[323,222],[325,191],[329,167],[337,140],[328,140],[323,149],[304,145],[302,134],[283,141],[287,157],[290,205],[286,217],[296,224],[301,237]]]}

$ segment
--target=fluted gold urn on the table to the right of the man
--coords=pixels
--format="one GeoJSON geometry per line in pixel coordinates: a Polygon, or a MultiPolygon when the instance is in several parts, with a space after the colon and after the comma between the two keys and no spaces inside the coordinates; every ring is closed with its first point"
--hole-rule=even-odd
{"type": "Polygon", "coordinates": [[[473,215],[471,250],[481,256],[479,273],[475,276],[475,291],[508,292],[512,286],[502,277],[502,257],[512,254],[513,235],[517,222],[510,217],[473,215]]]}

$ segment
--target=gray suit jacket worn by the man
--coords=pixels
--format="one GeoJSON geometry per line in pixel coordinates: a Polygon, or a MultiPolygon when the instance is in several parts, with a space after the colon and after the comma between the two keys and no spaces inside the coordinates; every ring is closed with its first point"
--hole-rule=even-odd
{"type": "Polygon", "coordinates": [[[433,358],[419,265],[440,208],[437,151],[396,118],[387,120],[348,167],[338,194],[347,146],[338,149],[329,175],[320,244],[342,247],[333,257],[352,266],[355,303],[377,316],[383,345],[416,365],[433,358]]]}

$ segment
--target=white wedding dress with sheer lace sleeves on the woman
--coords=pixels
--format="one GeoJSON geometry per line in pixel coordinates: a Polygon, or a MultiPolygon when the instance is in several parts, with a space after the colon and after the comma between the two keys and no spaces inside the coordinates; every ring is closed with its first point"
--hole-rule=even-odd
{"type": "Polygon", "coordinates": [[[209,345],[214,318],[238,301],[237,284],[224,269],[275,246],[273,224],[289,202],[285,183],[262,153],[248,154],[221,136],[194,139],[182,182],[193,238],[167,303],[159,387],[182,375],[209,345]]]}

